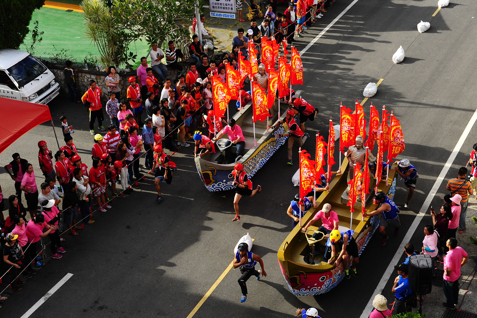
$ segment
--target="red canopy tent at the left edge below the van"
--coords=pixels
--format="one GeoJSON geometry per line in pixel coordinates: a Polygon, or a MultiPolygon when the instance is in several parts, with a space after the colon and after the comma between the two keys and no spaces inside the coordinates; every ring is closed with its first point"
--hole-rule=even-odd
{"type": "MultiPolygon", "coordinates": [[[[31,128],[45,121],[51,120],[53,126],[52,115],[50,114],[48,105],[0,97],[0,114],[3,114],[3,123],[5,123],[0,125],[0,152],[3,152],[3,150],[8,148],[15,140],[23,136],[23,134],[31,128]],[[9,114],[13,116],[9,116],[9,114]],[[15,114],[18,115],[15,116],[15,114]]],[[[56,141],[58,142],[58,138],[56,141]]],[[[60,146],[58,146],[58,148],[60,148],[60,146]]]]}

